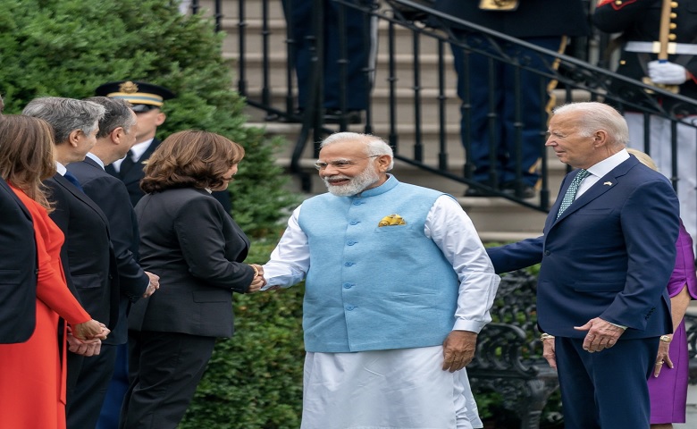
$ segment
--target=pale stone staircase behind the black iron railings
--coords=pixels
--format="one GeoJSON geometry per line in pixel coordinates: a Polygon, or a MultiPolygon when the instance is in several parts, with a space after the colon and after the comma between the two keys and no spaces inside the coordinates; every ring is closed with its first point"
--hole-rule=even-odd
{"type": "MultiPolygon", "coordinates": [[[[246,84],[248,94],[251,99],[261,98],[261,88],[263,88],[263,66],[262,52],[264,44],[261,34],[263,29],[263,0],[223,0],[221,27],[226,33],[223,41],[223,55],[230,61],[234,75],[235,85],[239,79],[238,58],[239,58],[239,1],[244,2],[246,10],[246,43],[245,43],[245,58],[248,62],[246,72],[246,84]]],[[[201,13],[212,15],[211,11],[214,8],[213,2],[210,0],[202,1],[201,13]]],[[[271,0],[267,3],[267,13],[269,20],[266,31],[270,34],[268,48],[271,50],[271,67],[268,75],[268,81],[272,82],[271,100],[273,105],[279,109],[285,109],[285,97],[287,88],[286,78],[286,43],[285,43],[285,24],[280,0],[271,0]]],[[[382,2],[382,7],[389,7],[382,2]]],[[[387,24],[381,21],[378,28],[378,59],[374,80],[373,98],[373,134],[382,138],[388,135],[389,114],[388,104],[388,82],[386,81],[387,70],[387,46],[386,43],[381,43],[386,40],[387,24]]],[[[402,82],[414,82],[413,71],[410,61],[413,58],[413,41],[412,33],[400,27],[397,27],[398,45],[397,45],[397,62],[398,62],[398,77],[402,82]]],[[[424,132],[424,156],[428,160],[435,160],[438,156],[438,88],[437,88],[437,73],[438,73],[438,44],[431,38],[420,39],[421,53],[421,80],[420,87],[421,98],[426,104],[422,105],[422,130],[424,132]]],[[[449,55],[449,46],[446,46],[449,55]]],[[[446,64],[446,80],[448,86],[446,88],[446,117],[447,117],[447,145],[448,145],[448,167],[450,172],[462,172],[463,164],[465,164],[465,154],[463,147],[460,144],[459,138],[459,100],[456,94],[457,78],[453,71],[452,63],[446,64]]],[[[406,153],[412,150],[415,136],[413,133],[413,122],[415,121],[414,103],[412,102],[413,92],[404,91],[398,93],[399,110],[397,117],[399,123],[405,126],[399,127],[399,152],[406,153]],[[408,126],[406,126],[408,125],[408,126]]],[[[583,95],[581,96],[583,97],[583,95]]],[[[563,99],[560,94],[558,99],[563,99]]],[[[300,124],[284,123],[284,122],[268,122],[265,120],[265,112],[253,107],[247,108],[249,116],[249,125],[265,128],[267,134],[272,136],[280,136],[286,140],[278,153],[278,164],[289,167],[290,155],[298,137],[300,124]]],[[[327,125],[332,127],[332,125],[327,125]]],[[[337,126],[338,130],[338,126],[337,126]]],[[[364,132],[363,125],[350,125],[348,130],[364,132]]],[[[549,168],[553,172],[550,175],[551,192],[556,192],[558,184],[566,172],[566,166],[561,164],[554,156],[552,151],[547,153],[549,159],[549,168]]],[[[304,170],[307,170],[315,179],[312,182],[311,196],[314,193],[322,193],[325,191],[322,181],[316,175],[313,163],[315,157],[312,153],[312,145],[307,145],[307,150],[301,165],[304,170]]],[[[474,226],[483,241],[512,241],[522,240],[529,237],[536,237],[542,233],[542,227],[546,214],[526,208],[525,206],[516,205],[505,198],[465,198],[463,193],[466,185],[457,181],[450,181],[430,172],[424,172],[410,164],[397,161],[393,170],[399,181],[414,183],[432,189],[439,189],[448,192],[452,196],[458,198],[460,205],[472,219],[474,226]]],[[[299,180],[296,176],[290,181],[290,190],[299,192],[299,180]]],[[[552,199],[554,195],[552,195],[552,199]]]]}

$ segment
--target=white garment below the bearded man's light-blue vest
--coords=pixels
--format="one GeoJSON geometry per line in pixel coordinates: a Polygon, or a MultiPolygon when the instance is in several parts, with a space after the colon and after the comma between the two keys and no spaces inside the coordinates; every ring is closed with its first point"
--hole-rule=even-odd
{"type": "Polygon", "coordinates": [[[483,427],[466,370],[442,364],[441,346],[308,352],[301,429],[483,427]]]}

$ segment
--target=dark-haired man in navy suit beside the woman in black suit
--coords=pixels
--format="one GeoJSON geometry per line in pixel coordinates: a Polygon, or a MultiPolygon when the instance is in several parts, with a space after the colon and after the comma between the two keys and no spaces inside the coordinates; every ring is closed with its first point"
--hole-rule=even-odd
{"type": "MultiPolygon", "coordinates": [[[[88,101],[97,103],[105,107],[105,116],[99,121],[99,131],[97,132],[97,144],[88,152],[85,160],[80,163],[68,165],[71,172],[80,181],[82,189],[89,198],[97,203],[109,220],[113,249],[116,254],[116,261],[119,272],[119,289],[121,298],[119,300],[119,322],[109,335],[109,338],[102,341],[101,353],[97,357],[88,359],[88,364],[97,369],[93,373],[92,384],[101,389],[100,393],[105,395],[98,398],[105,398],[103,412],[100,413],[101,427],[102,418],[106,404],[112,404],[111,427],[118,425],[119,412],[123,396],[128,389],[127,374],[128,361],[128,328],[126,317],[130,310],[130,304],[139,298],[147,298],[159,284],[159,277],[153,273],[146,273],[138,264],[139,231],[136,223],[136,214],[130,206],[130,198],[126,185],[113,175],[105,172],[105,165],[112,164],[117,159],[121,159],[136,142],[138,125],[136,114],[130,109],[130,105],[118,98],[91,97],[88,101]],[[100,366],[113,368],[113,378],[123,379],[122,388],[119,383],[109,383],[108,389],[105,381],[108,381],[112,374],[99,371],[100,366]],[[117,375],[121,374],[121,378],[117,375]],[[103,379],[102,377],[106,377],[103,379]]],[[[73,413],[69,424],[72,427],[79,427],[78,422],[86,422],[89,427],[94,427],[94,419],[91,414],[94,408],[82,407],[73,413]],[[81,412],[80,412],[81,411],[81,412]]],[[[107,423],[104,423],[107,425],[107,423]]],[[[84,426],[84,427],[88,427],[84,426]]]]}

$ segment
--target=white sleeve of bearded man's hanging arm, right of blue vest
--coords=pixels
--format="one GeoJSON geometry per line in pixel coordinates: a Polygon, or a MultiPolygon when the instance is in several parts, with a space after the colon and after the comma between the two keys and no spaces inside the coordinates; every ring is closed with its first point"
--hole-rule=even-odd
{"type": "Polygon", "coordinates": [[[499,288],[500,277],[479,239],[474,224],[458,202],[442,196],[426,217],[424,233],[458,273],[459,294],[453,330],[480,332],[491,322],[489,309],[499,288]]]}

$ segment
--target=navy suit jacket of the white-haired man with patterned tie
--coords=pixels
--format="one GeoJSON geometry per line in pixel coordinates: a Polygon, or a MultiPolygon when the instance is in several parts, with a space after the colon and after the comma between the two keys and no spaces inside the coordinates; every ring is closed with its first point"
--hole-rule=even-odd
{"type": "MultiPolygon", "coordinates": [[[[559,196],[576,173],[567,174],[559,196]]],[[[542,237],[488,250],[497,273],[542,262],[542,332],[584,338],[574,326],[594,317],[627,326],[620,341],[672,332],[666,285],[676,260],[678,202],[668,180],[631,156],[557,218],[561,200],[542,237]]]]}

